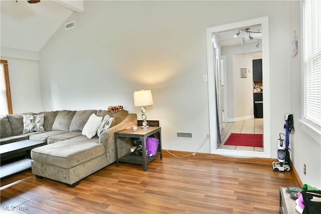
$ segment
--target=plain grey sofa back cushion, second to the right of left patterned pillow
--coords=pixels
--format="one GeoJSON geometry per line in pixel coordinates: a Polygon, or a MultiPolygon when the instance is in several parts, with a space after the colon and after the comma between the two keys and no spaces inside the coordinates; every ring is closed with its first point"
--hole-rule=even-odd
{"type": "Polygon", "coordinates": [[[52,125],[52,130],[69,131],[72,118],[76,114],[76,111],[62,110],[59,111],[52,125]]]}

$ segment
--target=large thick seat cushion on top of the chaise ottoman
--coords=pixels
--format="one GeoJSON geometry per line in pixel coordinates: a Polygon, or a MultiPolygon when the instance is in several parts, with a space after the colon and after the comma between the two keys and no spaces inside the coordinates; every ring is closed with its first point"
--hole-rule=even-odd
{"type": "Polygon", "coordinates": [[[79,136],[58,143],[34,148],[32,159],[43,164],[69,169],[105,152],[105,147],[98,143],[98,137],[88,139],[79,136]]]}

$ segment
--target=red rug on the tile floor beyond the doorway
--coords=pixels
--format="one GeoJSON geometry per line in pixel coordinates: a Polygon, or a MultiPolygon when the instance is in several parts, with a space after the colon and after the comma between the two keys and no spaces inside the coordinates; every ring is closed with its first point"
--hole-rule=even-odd
{"type": "Polygon", "coordinates": [[[263,147],[263,134],[231,133],[224,145],[263,147]]]}

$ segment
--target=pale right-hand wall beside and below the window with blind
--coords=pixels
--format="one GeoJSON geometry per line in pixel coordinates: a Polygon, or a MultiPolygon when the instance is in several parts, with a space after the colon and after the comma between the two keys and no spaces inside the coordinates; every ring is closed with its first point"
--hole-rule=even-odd
{"type": "Polygon", "coordinates": [[[291,160],[299,174],[303,183],[308,183],[312,186],[321,189],[321,146],[320,142],[316,142],[309,134],[302,130],[302,124],[299,119],[302,117],[301,102],[303,99],[301,86],[301,62],[302,57],[302,34],[300,26],[300,7],[295,2],[290,3],[290,32],[288,34],[289,41],[293,40],[294,29],[298,37],[298,52],[293,56],[292,49],[288,49],[287,56],[290,59],[290,75],[287,81],[290,82],[287,88],[290,96],[290,113],[293,114],[295,132],[290,135],[291,160]],[[303,164],[306,164],[306,175],[303,173],[303,164]]]}

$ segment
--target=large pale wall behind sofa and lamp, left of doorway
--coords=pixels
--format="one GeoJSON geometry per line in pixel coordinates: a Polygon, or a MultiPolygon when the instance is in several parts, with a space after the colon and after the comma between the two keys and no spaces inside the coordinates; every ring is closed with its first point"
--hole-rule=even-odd
{"type": "MultiPolygon", "coordinates": [[[[44,110],[124,105],[140,117],[133,92],[151,89],[146,115],[160,121],[164,148],[196,151],[209,133],[203,75],[205,32],[214,17],[205,5],[183,5],[84,2],[84,12],[66,20],[76,28],[62,26],[40,52],[44,110]],[[199,16],[204,9],[208,15],[199,16]],[[176,132],[193,140],[176,139],[176,132]]],[[[209,152],[208,143],[200,151],[209,152]]]]}

